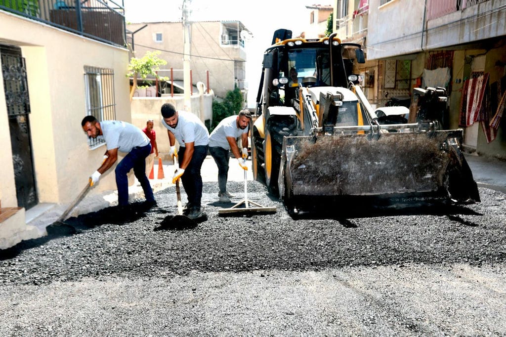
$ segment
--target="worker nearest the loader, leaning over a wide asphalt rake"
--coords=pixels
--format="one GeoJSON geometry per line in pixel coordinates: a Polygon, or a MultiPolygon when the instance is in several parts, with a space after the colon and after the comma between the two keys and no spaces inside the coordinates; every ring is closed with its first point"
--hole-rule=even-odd
{"type": "Polygon", "coordinates": [[[220,192],[218,197],[220,202],[230,202],[233,197],[227,192],[228,180],[228,162],[230,159],[230,151],[237,159],[239,166],[243,170],[247,170],[242,157],[248,156],[248,125],[251,114],[248,109],[242,109],[238,115],[224,118],[209,136],[209,153],[215,159],[218,166],[218,186],[220,192]],[[239,152],[237,146],[237,138],[241,138],[242,151],[239,152]]]}

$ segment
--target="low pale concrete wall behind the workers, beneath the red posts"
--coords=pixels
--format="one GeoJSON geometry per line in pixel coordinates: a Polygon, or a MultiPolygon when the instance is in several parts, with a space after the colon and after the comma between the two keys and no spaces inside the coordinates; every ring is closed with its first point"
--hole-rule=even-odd
{"type": "MultiPolygon", "coordinates": [[[[213,94],[204,94],[201,97],[192,96],[192,112],[199,116],[202,121],[211,119],[213,115],[213,94]]],[[[153,119],[154,131],[156,132],[156,146],[158,154],[166,159],[170,145],[167,138],[167,129],[161,123],[160,108],[164,103],[172,103],[178,110],[184,110],[184,96],[171,97],[134,97],[132,99],[132,123],[144,129],[146,121],[153,119]]]]}

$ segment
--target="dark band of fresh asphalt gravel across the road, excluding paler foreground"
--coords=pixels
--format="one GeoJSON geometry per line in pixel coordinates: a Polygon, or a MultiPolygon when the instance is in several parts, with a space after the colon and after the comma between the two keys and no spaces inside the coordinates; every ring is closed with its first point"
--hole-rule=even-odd
{"type": "MultiPolygon", "coordinates": [[[[240,201],[243,184],[229,182],[240,201]]],[[[84,277],[173,277],[190,271],[319,271],[343,266],[410,263],[482,264],[506,260],[505,195],[480,189],[482,202],[416,208],[346,218],[346,210],[293,219],[257,182],[248,198],[277,206],[274,215],[219,217],[216,183],[204,183],[206,217],[191,230],[155,229],[174,216],[174,187],[158,192],[158,206],[131,222],[113,209],[72,218],[73,235],[50,235],[0,251],[0,284],[46,284],[84,277]],[[333,214],[333,217],[332,217],[333,214]]],[[[183,201],[186,195],[183,194],[183,201]]],[[[138,207],[139,208],[139,207],[138,207]]]]}

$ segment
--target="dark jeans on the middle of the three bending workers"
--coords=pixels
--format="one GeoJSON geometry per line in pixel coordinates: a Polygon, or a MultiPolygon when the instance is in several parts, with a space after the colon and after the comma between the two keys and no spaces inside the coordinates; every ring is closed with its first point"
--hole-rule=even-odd
{"type": "MultiPolygon", "coordinates": [[[[179,162],[183,162],[185,148],[180,146],[178,151],[179,162]]],[[[185,173],[181,176],[181,182],[188,195],[188,202],[192,207],[200,208],[202,200],[202,176],[200,168],[207,155],[207,145],[198,145],[193,149],[193,155],[190,163],[185,168],[185,173]]]]}

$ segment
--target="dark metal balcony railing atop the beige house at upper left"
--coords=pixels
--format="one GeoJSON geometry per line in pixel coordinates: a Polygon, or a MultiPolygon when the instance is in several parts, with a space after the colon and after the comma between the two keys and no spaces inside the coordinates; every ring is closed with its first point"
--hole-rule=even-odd
{"type": "Polygon", "coordinates": [[[108,44],[125,46],[123,1],[0,0],[0,10],[108,44]]]}

